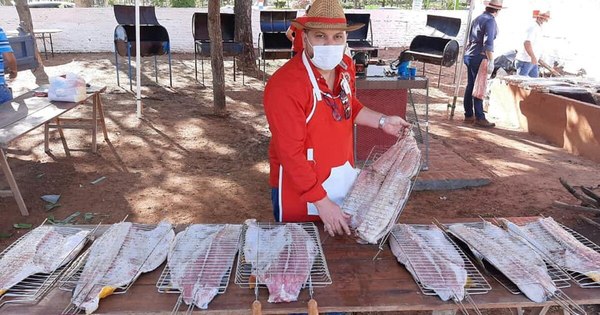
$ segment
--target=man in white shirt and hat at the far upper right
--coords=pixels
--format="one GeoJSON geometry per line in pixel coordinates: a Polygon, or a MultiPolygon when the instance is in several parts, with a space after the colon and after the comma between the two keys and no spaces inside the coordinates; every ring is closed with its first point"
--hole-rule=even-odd
{"type": "Polygon", "coordinates": [[[535,22],[527,28],[523,48],[519,49],[517,54],[517,74],[539,77],[538,64],[544,67],[547,65],[540,57],[540,40],[542,38],[542,25],[550,19],[550,12],[540,12],[535,15],[535,22]]]}

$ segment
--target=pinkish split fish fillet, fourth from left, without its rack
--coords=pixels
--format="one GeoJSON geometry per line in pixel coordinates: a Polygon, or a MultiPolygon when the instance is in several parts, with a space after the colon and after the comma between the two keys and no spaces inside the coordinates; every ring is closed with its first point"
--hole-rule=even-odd
{"type": "Polygon", "coordinates": [[[308,280],[317,246],[301,225],[273,229],[249,224],[244,255],[252,262],[259,283],[269,289],[269,302],[293,302],[308,280]]]}

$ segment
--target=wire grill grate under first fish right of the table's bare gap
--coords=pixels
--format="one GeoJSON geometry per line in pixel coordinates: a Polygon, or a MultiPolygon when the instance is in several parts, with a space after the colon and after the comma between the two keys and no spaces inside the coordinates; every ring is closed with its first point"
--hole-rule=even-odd
{"type": "MultiPolygon", "coordinates": [[[[416,242],[407,242],[404,240],[402,234],[397,228],[392,230],[392,237],[398,242],[400,247],[402,248],[403,253],[406,255],[408,263],[412,266],[412,269],[415,271],[413,274],[414,280],[421,289],[421,292],[425,295],[437,295],[434,290],[438,289],[446,289],[447,286],[439,284],[439,279],[441,278],[450,278],[454,276],[450,275],[447,272],[441,272],[440,269],[434,268],[431,266],[427,258],[424,257],[423,251],[430,250],[432,252],[451,252],[456,253],[463,265],[461,267],[464,268],[467,274],[467,282],[465,284],[465,292],[468,294],[485,294],[489,292],[492,288],[490,284],[485,280],[483,275],[477,270],[475,265],[467,258],[465,253],[458,247],[454,241],[448,237],[445,233],[443,233],[439,228],[435,225],[409,225],[413,228],[413,231],[421,236],[420,240],[425,241],[424,246],[427,248],[422,248],[422,245],[416,242]],[[425,232],[431,229],[437,229],[442,233],[444,240],[447,242],[431,242],[428,241],[428,238],[425,235],[425,232]],[[424,285],[423,283],[429,283],[429,285],[424,285]],[[438,283],[436,285],[436,283],[438,283]]],[[[398,226],[396,226],[398,227],[398,226]]],[[[436,256],[436,258],[439,258],[436,256]]],[[[439,262],[443,263],[443,262],[439,262]]]]}

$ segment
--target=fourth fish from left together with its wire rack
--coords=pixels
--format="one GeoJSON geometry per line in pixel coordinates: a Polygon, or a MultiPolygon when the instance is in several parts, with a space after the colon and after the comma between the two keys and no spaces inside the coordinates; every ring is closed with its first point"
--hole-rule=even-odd
{"type": "MultiPolygon", "coordinates": [[[[313,223],[257,223],[247,220],[241,237],[235,283],[266,286],[269,302],[293,302],[302,288],[331,284],[313,223]]],[[[258,290],[256,291],[258,295],[258,290]]]]}

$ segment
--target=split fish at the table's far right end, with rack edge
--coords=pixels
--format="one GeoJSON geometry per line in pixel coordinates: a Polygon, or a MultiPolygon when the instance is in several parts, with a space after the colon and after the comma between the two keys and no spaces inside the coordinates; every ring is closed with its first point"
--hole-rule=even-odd
{"type": "Polygon", "coordinates": [[[552,218],[501,219],[511,233],[526,239],[545,259],[564,268],[582,288],[600,287],[600,247],[552,218]]]}

